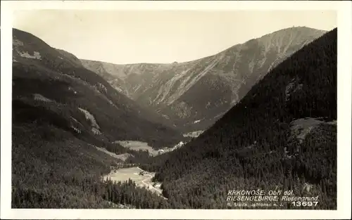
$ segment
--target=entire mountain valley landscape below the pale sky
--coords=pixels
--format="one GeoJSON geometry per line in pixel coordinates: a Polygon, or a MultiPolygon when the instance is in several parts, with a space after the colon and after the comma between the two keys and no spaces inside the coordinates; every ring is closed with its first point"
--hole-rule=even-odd
{"type": "Polygon", "coordinates": [[[13,208],[229,209],[251,188],[337,208],[337,29],[127,65],[13,29],[12,99],[13,208]]]}

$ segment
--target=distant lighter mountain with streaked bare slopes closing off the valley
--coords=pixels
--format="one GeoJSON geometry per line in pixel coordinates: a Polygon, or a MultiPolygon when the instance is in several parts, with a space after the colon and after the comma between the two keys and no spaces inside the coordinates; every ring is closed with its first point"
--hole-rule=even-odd
{"type": "Polygon", "coordinates": [[[186,63],[81,62],[118,91],[189,132],[208,128],[269,70],[324,33],[291,27],[186,63]]]}

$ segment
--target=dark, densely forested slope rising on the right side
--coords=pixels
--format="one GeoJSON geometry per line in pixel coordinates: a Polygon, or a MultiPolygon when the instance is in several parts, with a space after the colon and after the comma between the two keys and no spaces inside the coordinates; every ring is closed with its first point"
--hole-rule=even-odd
{"type": "Polygon", "coordinates": [[[270,70],[194,141],[144,169],[157,172],[172,207],[228,208],[229,190],[261,189],[318,196],[314,209],[337,209],[337,29],[270,70]]]}

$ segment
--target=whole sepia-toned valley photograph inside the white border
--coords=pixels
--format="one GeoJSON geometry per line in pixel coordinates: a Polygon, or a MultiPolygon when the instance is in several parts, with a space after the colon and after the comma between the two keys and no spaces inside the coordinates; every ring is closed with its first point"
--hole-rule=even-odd
{"type": "Polygon", "coordinates": [[[13,9],[11,209],[336,211],[338,18],[13,9]]]}

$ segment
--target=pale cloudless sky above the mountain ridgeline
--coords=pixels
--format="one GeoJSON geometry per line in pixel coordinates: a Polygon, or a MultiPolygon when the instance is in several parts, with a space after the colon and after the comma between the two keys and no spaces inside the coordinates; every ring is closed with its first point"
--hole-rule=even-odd
{"type": "Polygon", "coordinates": [[[15,11],[13,27],[77,58],[172,63],[214,55],[287,27],[337,27],[336,11],[15,11]]]}

